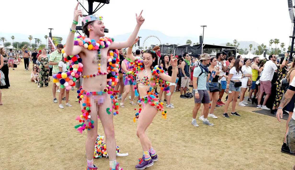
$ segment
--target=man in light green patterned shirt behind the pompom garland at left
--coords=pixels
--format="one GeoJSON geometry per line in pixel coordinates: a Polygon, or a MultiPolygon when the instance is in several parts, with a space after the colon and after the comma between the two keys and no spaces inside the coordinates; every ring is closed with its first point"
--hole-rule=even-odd
{"type": "MultiPolygon", "coordinates": [[[[63,44],[58,44],[56,50],[50,54],[49,65],[53,65],[52,74],[57,74],[59,72],[58,62],[60,62],[63,57],[63,54],[61,53],[62,49],[63,49],[63,44]]],[[[53,86],[52,86],[53,103],[58,102],[55,97],[56,92],[60,92],[60,90],[58,89],[58,86],[56,86],[56,84],[53,83],[53,86]]]]}

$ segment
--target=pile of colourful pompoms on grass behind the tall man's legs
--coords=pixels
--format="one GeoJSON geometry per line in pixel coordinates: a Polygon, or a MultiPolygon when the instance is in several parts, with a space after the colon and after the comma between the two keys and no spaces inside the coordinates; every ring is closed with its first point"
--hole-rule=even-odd
{"type": "MultiPolygon", "coordinates": [[[[116,146],[116,155],[120,154],[119,147],[116,146]]],[[[93,158],[101,158],[102,156],[108,158],[108,153],[106,151],[106,143],[104,143],[104,137],[97,135],[95,145],[94,145],[94,155],[93,158]]]]}

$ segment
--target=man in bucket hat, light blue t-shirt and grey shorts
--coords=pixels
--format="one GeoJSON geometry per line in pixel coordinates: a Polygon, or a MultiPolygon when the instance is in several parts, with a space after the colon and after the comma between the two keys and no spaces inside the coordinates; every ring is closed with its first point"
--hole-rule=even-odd
{"type": "Polygon", "coordinates": [[[209,78],[208,77],[209,69],[207,65],[210,63],[211,58],[212,57],[210,57],[209,54],[206,54],[206,53],[202,54],[200,58],[200,62],[201,62],[200,65],[194,69],[194,74],[193,74],[194,89],[192,93],[194,94],[195,107],[193,109],[193,120],[191,121],[191,124],[195,127],[199,127],[196,121],[196,116],[202,103],[204,105],[203,124],[214,126],[213,123],[210,123],[209,120],[207,120],[209,103],[210,103],[210,97],[206,88],[207,78],[209,78]]]}

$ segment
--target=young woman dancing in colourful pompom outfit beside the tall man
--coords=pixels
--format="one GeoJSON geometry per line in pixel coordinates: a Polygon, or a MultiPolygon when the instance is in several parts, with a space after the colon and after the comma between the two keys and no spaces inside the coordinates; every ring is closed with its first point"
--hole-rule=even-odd
{"type": "Polygon", "coordinates": [[[177,60],[172,57],[171,54],[172,76],[166,75],[162,67],[158,66],[158,56],[155,51],[151,49],[143,52],[142,60],[137,60],[135,62],[140,65],[140,67],[142,66],[142,69],[140,69],[136,75],[136,81],[138,83],[139,94],[140,96],[143,96],[140,99],[143,109],[139,111],[140,116],[138,117],[137,115],[138,122],[136,130],[136,135],[140,139],[143,149],[143,156],[142,159],[139,159],[140,162],[135,166],[136,169],[145,169],[146,167],[153,166],[153,162],[158,160],[158,156],[145,131],[159,110],[162,111],[162,115],[165,117],[165,112],[162,106],[163,103],[158,102],[158,99],[156,98],[157,93],[154,92],[155,86],[158,82],[161,82],[159,78],[169,82],[176,82],[177,60]],[[151,78],[153,79],[151,80],[151,78]]]}

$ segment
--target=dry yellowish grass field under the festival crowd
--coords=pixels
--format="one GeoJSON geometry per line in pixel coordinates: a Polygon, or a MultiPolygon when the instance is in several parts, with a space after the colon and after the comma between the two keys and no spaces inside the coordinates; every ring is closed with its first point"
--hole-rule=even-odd
{"type": "MultiPolygon", "coordinates": [[[[70,91],[72,108],[58,108],[58,103],[52,102],[52,81],[50,87],[37,88],[23,63],[9,70],[11,87],[2,90],[0,169],[85,169],[86,133],[81,135],[73,128],[80,114],[80,106],[74,101],[76,91],[70,91]]],[[[167,120],[158,113],[147,130],[159,156],[148,169],[263,170],[291,169],[294,165],[294,156],[280,152],[285,120],[278,123],[273,117],[251,112],[256,108],[240,106],[237,111],[241,117],[225,119],[221,107],[215,110],[219,118],[209,119],[215,126],[198,121],[200,127],[194,127],[193,99],[181,99],[179,93],[173,96],[175,109],[167,109],[167,120]]],[[[136,123],[132,121],[134,107],[128,103],[114,117],[117,145],[122,153],[129,153],[117,157],[125,170],[135,169],[142,156],[136,123]]],[[[100,123],[98,129],[104,135],[100,123]]],[[[106,158],[95,159],[94,164],[99,169],[109,168],[106,158]]]]}

